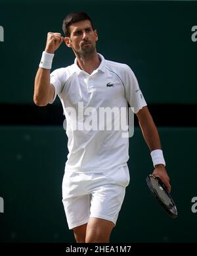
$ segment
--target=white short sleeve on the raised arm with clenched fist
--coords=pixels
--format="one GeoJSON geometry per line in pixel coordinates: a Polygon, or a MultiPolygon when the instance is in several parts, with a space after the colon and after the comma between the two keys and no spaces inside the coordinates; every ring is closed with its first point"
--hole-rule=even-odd
{"type": "Polygon", "coordinates": [[[56,95],[60,95],[65,82],[65,68],[58,68],[50,74],[50,84],[55,87],[55,95],[53,101],[49,102],[52,104],[55,101],[56,95]]]}

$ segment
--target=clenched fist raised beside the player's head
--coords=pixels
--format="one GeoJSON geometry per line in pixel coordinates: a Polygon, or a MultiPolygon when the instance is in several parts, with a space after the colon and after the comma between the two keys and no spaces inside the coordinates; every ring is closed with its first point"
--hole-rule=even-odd
{"type": "Polygon", "coordinates": [[[64,38],[60,33],[49,32],[47,34],[47,43],[45,51],[47,53],[55,53],[56,49],[58,49],[62,41],[64,41],[64,38]]]}

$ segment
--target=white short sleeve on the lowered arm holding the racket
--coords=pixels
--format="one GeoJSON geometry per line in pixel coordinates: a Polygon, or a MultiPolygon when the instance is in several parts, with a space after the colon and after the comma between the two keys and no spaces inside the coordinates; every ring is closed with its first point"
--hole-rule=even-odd
{"type": "Polygon", "coordinates": [[[127,65],[125,65],[124,75],[125,97],[130,107],[134,109],[133,112],[136,114],[140,109],[142,109],[142,107],[146,106],[147,104],[142,94],[142,91],[139,88],[139,84],[137,82],[135,74],[127,65]]]}

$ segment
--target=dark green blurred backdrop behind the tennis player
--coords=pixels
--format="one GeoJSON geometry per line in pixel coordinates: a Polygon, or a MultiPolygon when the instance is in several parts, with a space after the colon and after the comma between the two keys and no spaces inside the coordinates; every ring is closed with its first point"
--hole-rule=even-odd
{"type": "MultiPolygon", "coordinates": [[[[33,103],[47,32],[62,33],[62,20],[73,11],[93,19],[105,59],[135,72],[160,132],[179,211],[176,220],[169,218],[148,191],[153,166],[135,120],[131,183],[111,242],[197,242],[191,211],[197,196],[197,2],[84,0],[0,1],[0,242],[74,242],[61,201],[68,154],[62,106],[58,98],[47,107],[33,103]]],[[[73,62],[62,43],[53,70],[73,62]]]]}

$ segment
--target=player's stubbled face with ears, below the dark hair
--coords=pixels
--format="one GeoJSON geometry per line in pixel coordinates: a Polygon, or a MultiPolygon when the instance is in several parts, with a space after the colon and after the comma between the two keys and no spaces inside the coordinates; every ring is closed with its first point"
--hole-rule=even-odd
{"type": "Polygon", "coordinates": [[[70,25],[70,38],[64,41],[68,47],[72,47],[76,55],[91,55],[95,52],[97,30],[93,30],[89,20],[81,20],[70,25]]]}

